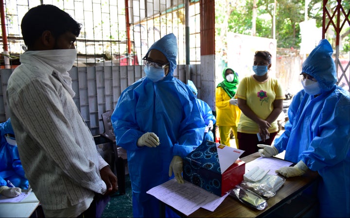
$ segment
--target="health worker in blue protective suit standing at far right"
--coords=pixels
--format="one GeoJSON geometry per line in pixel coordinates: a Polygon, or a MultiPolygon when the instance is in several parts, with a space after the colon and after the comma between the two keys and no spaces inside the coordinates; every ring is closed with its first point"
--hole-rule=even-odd
{"type": "Polygon", "coordinates": [[[303,90],[288,109],[289,121],[274,145],[258,145],[262,157],[285,150],[297,163],[276,172],[303,175],[309,168],[322,177],[318,184],[319,217],[350,217],[350,96],[336,85],[333,49],[322,39],[302,65],[303,90]]]}

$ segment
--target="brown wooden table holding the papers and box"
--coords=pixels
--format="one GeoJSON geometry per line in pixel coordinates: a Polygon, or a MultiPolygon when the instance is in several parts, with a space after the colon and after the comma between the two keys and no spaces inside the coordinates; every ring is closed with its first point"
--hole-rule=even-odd
{"type": "MultiPolygon", "coordinates": [[[[245,156],[241,160],[248,163],[260,157],[259,152],[245,156]]],[[[280,217],[276,215],[284,215],[286,217],[304,216],[306,213],[315,210],[317,207],[316,187],[320,176],[317,172],[308,170],[303,176],[286,178],[285,183],[277,191],[276,195],[267,200],[268,206],[260,211],[249,207],[238,201],[232,196],[228,196],[214,212],[199,208],[190,214],[189,218],[204,217],[280,217]],[[310,188],[311,194],[301,194],[305,189],[310,188]]],[[[309,189],[308,189],[309,190],[309,189]]],[[[174,209],[174,208],[173,208],[174,209]]],[[[176,211],[181,217],[186,215],[176,211]]]]}

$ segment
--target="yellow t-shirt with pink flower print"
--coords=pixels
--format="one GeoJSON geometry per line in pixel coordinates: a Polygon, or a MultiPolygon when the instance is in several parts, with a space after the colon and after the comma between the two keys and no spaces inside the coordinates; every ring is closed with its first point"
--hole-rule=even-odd
{"type": "MultiPolygon", "coordinates": [[[[253,75],[243,78],[235,96],[244,99],[250,109],[262,119],[266,119],[271,114],[275,100],[285,98],[277,79],[269,77],[264,82],[258,82],[253,75]]],[[[259,126],[242,113],[237,130],[241,133],[256,134],[259,133],[259,126]]],[[[271,123],[268,131],[269,133],[278,131],[277,120],[271,123]]]]}

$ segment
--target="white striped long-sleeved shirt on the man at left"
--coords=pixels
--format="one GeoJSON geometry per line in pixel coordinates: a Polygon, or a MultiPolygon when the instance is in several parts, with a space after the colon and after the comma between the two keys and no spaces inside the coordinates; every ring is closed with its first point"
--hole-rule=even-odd
{"type": "Polygon", "coordinates": [[[106,191],[100,169],[108,164],[52,68],[26,53],[20,62],[6,96],[20,159],[36,197],[48,210],[67,208],[67,200],[71,205],[92,201],[94,192],[106,191]]]}

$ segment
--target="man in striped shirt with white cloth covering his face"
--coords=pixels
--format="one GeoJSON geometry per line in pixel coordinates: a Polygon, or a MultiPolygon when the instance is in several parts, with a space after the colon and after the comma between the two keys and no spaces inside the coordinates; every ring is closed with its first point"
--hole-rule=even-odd
{"type": "Polygon", "coordinates": [[[72,99],[67,71],[81,24],[56,6],[39,5],[21,29],[27,51],[6,95],[26,176],[45,217],[98,217],[98,203],[118,186],[72,99]]]}

